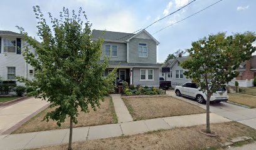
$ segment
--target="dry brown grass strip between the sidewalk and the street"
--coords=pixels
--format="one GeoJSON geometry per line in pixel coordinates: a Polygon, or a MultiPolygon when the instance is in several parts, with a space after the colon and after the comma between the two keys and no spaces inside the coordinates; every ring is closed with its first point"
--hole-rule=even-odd
{"type": "MultiPolygon", "coordinates": [[[[154,131],[132,136],[117,138],[87,140],[72,144],[77,149],[169,149],[169,150],[206,150],[221,149],[220,143],[228,142],[228,139],[241,136],[249,136],[256,139],[256,131],[237,122],[211,124],[211,130],[218,134],[210,137],[200,133],[202,126],[190,128],[174,128],[164,131],[154,131]]],[[[67,149],[68,144],[40,148],[45,150],[67,149]]]]}

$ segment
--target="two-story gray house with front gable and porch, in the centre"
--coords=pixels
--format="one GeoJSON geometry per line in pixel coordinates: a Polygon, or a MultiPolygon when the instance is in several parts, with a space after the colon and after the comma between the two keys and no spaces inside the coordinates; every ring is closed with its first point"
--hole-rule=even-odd
{"type": "Polygon", "coordinates": [[[109,58],[106,76],[114,68],[117,70],[116,84],[127,81],[129,84],[141,86],[159,86],[159,68],[157,64],[157,45],[159,42],[146,30],[137,34],[92,31],[93,40],[104,39],[102,57],[109,58]]]}

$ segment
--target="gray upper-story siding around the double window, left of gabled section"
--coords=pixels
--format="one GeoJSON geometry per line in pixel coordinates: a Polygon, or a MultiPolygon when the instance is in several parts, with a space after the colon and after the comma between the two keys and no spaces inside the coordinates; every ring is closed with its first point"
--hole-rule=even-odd
{"type": "Polygon", "coordinates": [[[115,45],[117,46],[117,57],[109,57],[110,61],[127,61],[127,46],[125,43],[118,42],[104,42],[102,44],[102,57],[101,60],[104,59],[105,56],[105,45],[115,45]]]}

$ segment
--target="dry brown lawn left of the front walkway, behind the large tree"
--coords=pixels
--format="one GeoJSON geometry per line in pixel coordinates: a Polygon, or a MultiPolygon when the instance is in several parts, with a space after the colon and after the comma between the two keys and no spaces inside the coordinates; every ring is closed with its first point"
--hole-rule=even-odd
{"type": "MultiPolygon", "coordinates": [[[[93,111],[90,108],[90,113],[80,112],[78,115],[78,124],[74,124],[73,127],[117,123],[112,99],[110,97],[106,97],[105,101],[101,102],[100,104],[100,108],[98,108],[97,111],[93,111]]],[[[34,118],[31,118],[27,123],[23,124],[23,126],[18,128],[12,134],[69,128],[70,119],[67,119],[65,123],[61,124],[60,127],[58,127],[56,122],[52,120],[50,120],[48,123],[46,121],[41,122],[46,113],[51,110],[53,109],[47,108],[44,111],[41,111],[41,113],[37,114],[34,118]]]]}

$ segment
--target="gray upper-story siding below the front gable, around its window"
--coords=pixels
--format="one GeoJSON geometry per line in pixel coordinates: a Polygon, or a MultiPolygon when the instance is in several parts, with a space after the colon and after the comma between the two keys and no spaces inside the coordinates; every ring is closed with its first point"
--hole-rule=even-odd
{"type": "Polygon", "coordinates": [[[152,39],[133,38],[129,42],[129,63],[156,63],[156,42],[152,39]],[[147,44],[147,58],[139,58],[139,43],[147,44]]]}

